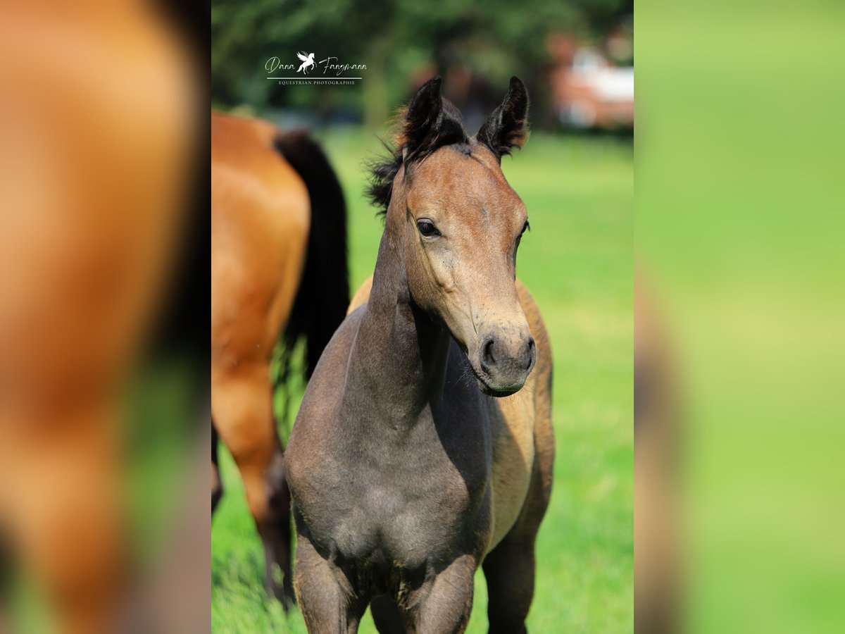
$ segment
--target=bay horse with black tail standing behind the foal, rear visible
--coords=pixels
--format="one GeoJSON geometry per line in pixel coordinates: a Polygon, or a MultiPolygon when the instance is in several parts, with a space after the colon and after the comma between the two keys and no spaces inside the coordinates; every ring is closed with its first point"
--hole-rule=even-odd
{"type": "MultiPolygon", "coordinates": [[[[264,121],[212,114],[211,416],[243,478],[267,589],[286,607],[293,598],[290,496],[270,358],[280,333],[287,351],[303,336],[310,375],[348,300],[346,208],[319,145],[264,121]]],[[[215,440],[212,511],[222,495],[215,440]]]]}

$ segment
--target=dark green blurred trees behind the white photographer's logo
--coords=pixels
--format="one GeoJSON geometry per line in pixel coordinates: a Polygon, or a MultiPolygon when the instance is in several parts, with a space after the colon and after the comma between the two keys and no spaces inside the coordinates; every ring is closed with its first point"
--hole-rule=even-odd
{"type": "Polygon", "coordinates": [[[428,63],[429,74],[447,78],[447,94],[454,84],[449,96],[461,107],[473,99],[485,101],[479,107],[492,106],[510,75],[520,75],[532,92],[535,124],[542,125],[551,121],[546,37],[567,32],[593,41],[632,13],[633,0],[214,0],[212,102],[259,110],[297,107],[324,118],[342,106],[374,127],[423,79],[412,73],[428,63]],[[297,51],[367,64],[363,90],[313,90],[265,79],[267,59],[295,63],[297,51]],[[460,75],[449,80],[461,68],[472,69],[474,82],[463,90],[460,75]]]}

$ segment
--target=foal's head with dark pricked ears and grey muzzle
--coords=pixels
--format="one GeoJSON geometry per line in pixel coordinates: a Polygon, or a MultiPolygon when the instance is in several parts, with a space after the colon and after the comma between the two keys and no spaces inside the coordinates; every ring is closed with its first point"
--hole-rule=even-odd
{"type": "Polygon", "coordinates": [[[514,77],[470,138],[431,79],[401,116],[393,159],[375,168],[370,192],[387,211],[413,301],[444,322],[492,396],[520,390],[536,358],[515,287],[526,207],[499,167],[525,142],[527,111],[514,77]]]}

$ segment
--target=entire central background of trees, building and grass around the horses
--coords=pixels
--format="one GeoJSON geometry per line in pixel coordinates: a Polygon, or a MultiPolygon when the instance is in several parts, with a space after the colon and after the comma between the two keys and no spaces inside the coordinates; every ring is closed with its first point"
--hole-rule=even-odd
{"type": "MultiPolygon", "coordinates": [[[[536,632],[634,626],[632,11],[625,0],[212,3],[212,107],[309,128],[324,145],[346,195],[353,290],[372,275],[383,230],[363,197],[364,163],[384,153],[395,110],[439,74],[474,134],[510,76],[526,82],[532,135],[502,168],[532,225],[517,274],[555,354],[556,479],[538,541],[536,632]],[[298,65],[299,51],[317,52],[318,67],[332,55],[367,68],[356,85],[266,79],[270,57],[298,65]]],[[[275,391],[283,436],[302,391],[298,379],[275,391]]],[[[226,451],[221,476],[213,631],[303,632],[297,611],[286,618],[265,598],[264,555],[226,451]]],[[[486,608],[478,575],[469,631],[487,631],[486,608]]],[[[368,615],[362,631],[374,631],[368,615]]]]}

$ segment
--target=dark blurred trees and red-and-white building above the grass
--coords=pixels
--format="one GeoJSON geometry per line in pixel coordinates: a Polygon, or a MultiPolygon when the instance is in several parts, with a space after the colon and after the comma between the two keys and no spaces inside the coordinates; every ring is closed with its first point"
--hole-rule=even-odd
{"type": "Polygon", "coordinates": [[[380,129],[397,104],[434,75],[464,113],[482,123],[501,87],[519,74],[542,129],[630,130],[634,123],[632,0],[377,0],[302,3],[215,0],[211,5],[212,107],[288,112],[309,125],[363,123],[380,129]],[[270,57],[297,63],[316,50],[366,64],[347,86],[278,85],[270,57]]]}

